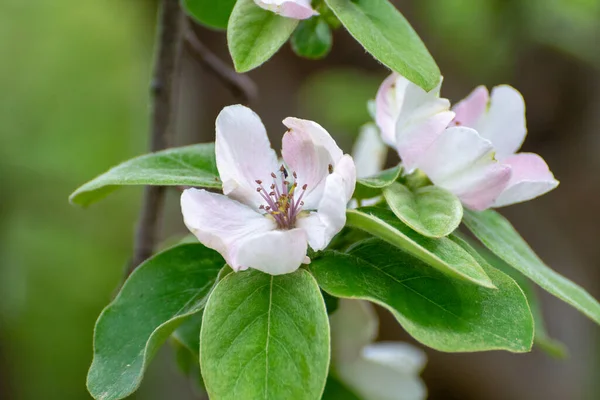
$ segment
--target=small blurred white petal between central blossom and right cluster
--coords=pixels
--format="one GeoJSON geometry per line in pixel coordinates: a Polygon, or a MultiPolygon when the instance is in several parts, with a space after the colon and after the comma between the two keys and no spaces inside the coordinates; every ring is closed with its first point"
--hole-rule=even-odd
{"type": "Polygon", "coordinates": [[[387,157],[387,147],[381,140],[379,128],[373,123],[363,125],[358,134],[352,158],[359,178],[375,175],[382,170],[387,157]]]}

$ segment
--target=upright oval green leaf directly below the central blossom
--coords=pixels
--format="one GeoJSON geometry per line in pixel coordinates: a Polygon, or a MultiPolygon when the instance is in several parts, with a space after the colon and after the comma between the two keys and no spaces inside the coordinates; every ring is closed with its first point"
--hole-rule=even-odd
{"type": "Polygon", "coordinates": [[[316,281],[304,269],[227,275],[206,305],[200,349],[211,399],[320,399],[330,350],[316,281]]]}

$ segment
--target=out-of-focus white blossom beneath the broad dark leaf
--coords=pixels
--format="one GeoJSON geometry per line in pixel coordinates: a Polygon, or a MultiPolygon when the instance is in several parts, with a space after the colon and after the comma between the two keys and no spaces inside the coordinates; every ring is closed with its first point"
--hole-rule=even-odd
{"type": "Polygon", "coordinates": [[[426,398],[425,353],[408,343],[373,343],[379,322],[370,303],[341,299],[330,321],[334,373],[362,399],[426,398]]]}

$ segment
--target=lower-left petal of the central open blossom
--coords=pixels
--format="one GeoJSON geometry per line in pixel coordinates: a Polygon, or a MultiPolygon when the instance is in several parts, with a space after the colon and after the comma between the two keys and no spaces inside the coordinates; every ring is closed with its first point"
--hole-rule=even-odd
{"type": "Polygon", "coordinates": [[[239,247],[253,235],[276,229],[276,223],[252,208],[203,189],[186,189],[181,212],[187,228],[206,247],[221,253],[236,271],[239,247]]]}

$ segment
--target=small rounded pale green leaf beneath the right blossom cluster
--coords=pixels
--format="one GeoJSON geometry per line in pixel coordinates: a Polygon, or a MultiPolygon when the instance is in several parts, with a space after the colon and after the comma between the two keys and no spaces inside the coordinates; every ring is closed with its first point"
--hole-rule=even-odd
{"type": "Polygon", "coordinates": [[[462,220],[460,200],[437,186],[411,190],[395,182],[383,190],[383,195],[394,214],[421,235],[448,236],[462,220]]]}

